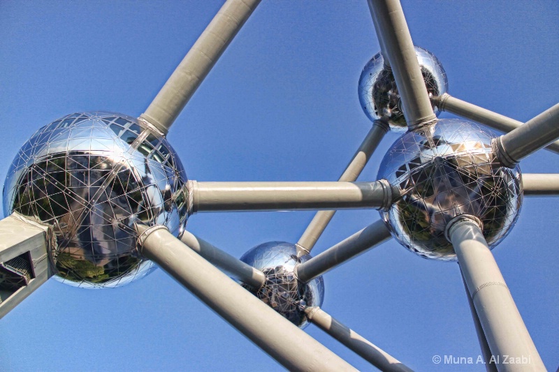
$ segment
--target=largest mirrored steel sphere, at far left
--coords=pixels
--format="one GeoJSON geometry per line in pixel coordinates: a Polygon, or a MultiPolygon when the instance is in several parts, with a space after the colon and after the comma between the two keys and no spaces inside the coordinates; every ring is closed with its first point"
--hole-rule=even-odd
{"type": "Polygon", "coordinates": [[[187,221],[184,168],[165,137],[113,112],[79,112],[39,129],[15,156],[4,214],[51,225],[59,281],[110,288],[145,276],[133,224],[187,221]]]}

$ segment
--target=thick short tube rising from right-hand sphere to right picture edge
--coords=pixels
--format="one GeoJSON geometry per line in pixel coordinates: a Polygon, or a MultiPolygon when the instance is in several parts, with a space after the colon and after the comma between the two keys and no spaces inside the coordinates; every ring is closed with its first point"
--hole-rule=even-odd
{"type": "Polygon", "coordinates": [[[493,149],[509,168],[559,138],[559,103],[493,140],[493,149]]]}

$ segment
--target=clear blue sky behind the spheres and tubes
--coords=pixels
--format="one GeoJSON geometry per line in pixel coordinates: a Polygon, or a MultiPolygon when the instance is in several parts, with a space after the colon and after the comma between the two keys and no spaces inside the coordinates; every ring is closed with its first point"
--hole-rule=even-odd
{"type": "MultiPolygon", "coordinates": [[[[2,1],[0,174],[36,129],[65,114],[138,116],[222,1],[2,1]]],[[[435,53],[449,93],[526,121],[558,102],[556,1],[403,1],[414,43],[435,53]]],[[[378,52],[360,1],[263,1],[168,139],[200,181],[331,181],[370,128],[358,77],[378,52]]],[[[442,117],[451,117],[442,114],[442,117]]],[[[387,135],[361,180],[374,180],[387,135]]],[[[559,172],[539,151],[523,172],[559,172]]],[[[526,199],[495,248],[547,369],[559,364],[559,283],[553,198],[526,199]]],[[[265,241],[296,242],[314,212],[191,216],[188,229],[240,256],[265,241]]],[[[377,221],[338,212],[314,254],[377,221]]],[[[395,241],[325,276],[324,310],[419,371],[433,355],[480,354],[455,263],[423,260],[395,241]]],[[[310,325],[358,369],[351,351],[310,325]]],[[[0,320],[3,371],[256,371],[281,367],[163,271],[113,290],[48,281],[0,320]]]]}

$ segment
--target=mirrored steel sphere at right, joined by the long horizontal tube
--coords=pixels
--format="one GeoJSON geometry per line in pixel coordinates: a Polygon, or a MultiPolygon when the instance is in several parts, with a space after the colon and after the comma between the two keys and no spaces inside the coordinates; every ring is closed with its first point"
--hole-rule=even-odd
{"type": "Polygon", "coordinates": [[[394,142],[378,179],[388,179],[401,193],[381,211],[400,244],[425,258],[456,260],[444,229],[460,214],[481,220],[491,248],[507,235],[522,204],[521,172],[495,158],[494,137],[470,121],[442,119],[394,142]]]}

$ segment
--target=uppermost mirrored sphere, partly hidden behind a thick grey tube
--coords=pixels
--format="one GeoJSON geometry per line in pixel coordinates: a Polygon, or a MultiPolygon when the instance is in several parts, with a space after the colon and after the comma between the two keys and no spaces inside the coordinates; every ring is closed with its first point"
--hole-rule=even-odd
{"type": "MultiPolygon", "coordinates": [[[[447,73],[435,55],[421,47],[415,47],[421,74],[429,96],[440,96],[449,87],[447,73]]],[[[400,94],[390,68],[384,66],[382,54],[377,53],[363,68],[358,85],[359,102],[369,119],[375,121],[389,117],[391,131],[403,133],[407,124],[402,112],[400,94]]],[[[435,114],[439,114],[433,105],[435,114]]]]}

